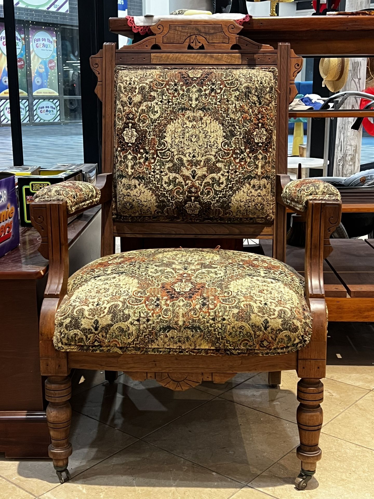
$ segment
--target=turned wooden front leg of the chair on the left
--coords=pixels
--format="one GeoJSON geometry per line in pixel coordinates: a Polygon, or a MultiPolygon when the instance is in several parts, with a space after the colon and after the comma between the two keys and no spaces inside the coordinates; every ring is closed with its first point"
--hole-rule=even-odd
{"type": "Polygon", "coordinates": [[[50,376],[45,381],[45,398],[49,404],[46,415],[49,435],[52,443],[48,447],[48,455],[53,459],[57,471],[67,469],[72,447],[69,443],[71,422],[71,381],[68,377],[50,376]]]}

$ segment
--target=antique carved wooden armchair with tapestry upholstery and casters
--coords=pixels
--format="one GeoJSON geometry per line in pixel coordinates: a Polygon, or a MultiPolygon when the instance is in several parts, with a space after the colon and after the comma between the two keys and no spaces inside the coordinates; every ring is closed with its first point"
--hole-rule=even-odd
{"type": "Polygon", "coordinates": [[[41,374],[49,456],[61,483],[72,453],[73,368],[121,370],[172,390],[296,369],[297,487],[306,487],[321,459],[322,264],[340,196],[330,184],[285,175],[288,103],[302,60],[289,44],[260,45],[240,29],[181,18],[120,50],[105,43],[91,57],[104,173],[96,187],[65,182],[34,197],[32,224],[49,259],[41,374]],[[68,215],[98,204],[102,258],[68,279],[68,215]],[[287,206],[306,220],[305,284],[282,263],[287,206]],[[116,236],[132,251],[113,254],[116,236]],[[133,250],[142,238],[165,237],[176,246],[187,238],[186,249],[133,250]],[[248,237],[272,238],[276,259],[188,242],[207,238],[209,248],[217,238],[248,237]]]}

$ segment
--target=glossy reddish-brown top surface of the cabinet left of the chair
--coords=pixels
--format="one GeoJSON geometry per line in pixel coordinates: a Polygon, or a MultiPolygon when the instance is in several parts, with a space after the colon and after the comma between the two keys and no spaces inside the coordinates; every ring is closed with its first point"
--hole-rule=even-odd
{"type": "MultiPolygon", "coordinates": [[[[87,224],[100,210],[90,208],[68,226],[69,246],[78,238],[87,224]]],[[[33,227],[20,227],[20,244],[0,258],[0,279],[40,279],[48,268],[48,260],[38,251],[40,235],[33,227]]]]}

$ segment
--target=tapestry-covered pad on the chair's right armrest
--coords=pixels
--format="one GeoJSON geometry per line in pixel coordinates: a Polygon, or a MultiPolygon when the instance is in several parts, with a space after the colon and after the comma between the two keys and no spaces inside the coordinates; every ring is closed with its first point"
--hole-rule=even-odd
{"type": "Polygon", "coordinates": [[[340,201],[340,192],[336,187],[317,179],[300,179],[289,182],[282,192],[283,203],[305,212],[308,201],[340,201]]]}

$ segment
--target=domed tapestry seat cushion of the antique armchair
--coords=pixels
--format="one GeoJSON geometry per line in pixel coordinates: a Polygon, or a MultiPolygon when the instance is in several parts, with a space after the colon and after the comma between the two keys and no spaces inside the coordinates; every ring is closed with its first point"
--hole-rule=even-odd
{"type": "Polygon", "coordinates": [[[57,350],[273,355],[305,346],[303,278],[233,250],[136,250],[75,272],[56,314],[57,350]]]}

